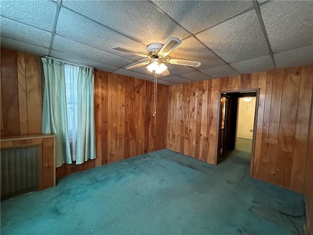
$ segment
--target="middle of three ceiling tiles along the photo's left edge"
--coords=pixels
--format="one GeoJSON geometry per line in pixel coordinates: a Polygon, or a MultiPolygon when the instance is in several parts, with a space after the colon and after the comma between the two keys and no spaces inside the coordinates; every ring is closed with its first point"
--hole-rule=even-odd
{"type": "Polygon", "coordinates": [[[5,17],[0,17],[0,21],[2,37],[33,44],[39,47],[48,48],[50,46],[51,33],[5,17]]]}

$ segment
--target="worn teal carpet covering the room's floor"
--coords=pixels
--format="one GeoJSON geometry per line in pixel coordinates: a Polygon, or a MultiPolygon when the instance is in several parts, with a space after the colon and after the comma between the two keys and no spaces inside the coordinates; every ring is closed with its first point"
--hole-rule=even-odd
{"type": "Polygon", "coordinates": [[[213,166],[164,149],[71,174],[1,202],[1,235],[298,234],[278,211],[303,215],[302,195],[250,178],[245,154],[213,166]]]}

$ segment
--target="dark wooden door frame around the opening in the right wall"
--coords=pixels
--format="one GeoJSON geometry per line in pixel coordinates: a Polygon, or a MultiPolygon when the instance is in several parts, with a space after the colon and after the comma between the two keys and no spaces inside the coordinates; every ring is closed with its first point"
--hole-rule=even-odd
{"type": "MultiPolygon", "coordinates": [[[[253,122],[253,135],[252,135],[252,148],[251,148],[251,158],[250,158],[250,172],[249,175],[253,177],[253,165],[254,165],[254,151],[255,151],[255,139],[256,139],[256,129],[257,129],[257,120],[258,120],[258,111],[259,111],[259,96],[260,96],[260,88],[254,88],[254,89],[241,89],[241,90],[232,90],[232,91],[220,91],[219,92],[219,102],[218,102],[218,128],[216,130],[216,147],[215,147],[215,159],[214,163],[215,165],[218,164],[219,160],[219,139],[220,137],[220,129],[222,128],[221,126],[221,105],[220,101],[222,98],[222,94],[227,94],[227,93],[244,93],[244,92],[255,92],[255,111],[254,111],[254,122],[253,122]]],[[[238,112],[237,112],[238,115],[238,112]]]]}

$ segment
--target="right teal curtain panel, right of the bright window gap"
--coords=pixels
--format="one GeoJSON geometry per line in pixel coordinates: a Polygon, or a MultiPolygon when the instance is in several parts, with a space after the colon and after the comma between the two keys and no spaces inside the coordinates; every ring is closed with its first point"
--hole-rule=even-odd
{"type": "Polygon", "coordinates": [[[80,67],[77,81],[76,164],[96,158],[93,113],[93,69],[80,67]]]}

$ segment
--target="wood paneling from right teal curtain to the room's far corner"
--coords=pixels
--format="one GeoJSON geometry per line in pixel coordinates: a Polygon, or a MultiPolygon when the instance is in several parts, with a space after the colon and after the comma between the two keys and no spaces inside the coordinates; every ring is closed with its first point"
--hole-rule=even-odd
{"type": "Polygon", "coordinates": [[[166,147],[168,86],[112,72],[94,72],[94,112],[97,158],[85,164],[63,164],[57,177],[113,163],[166,147]]]}

